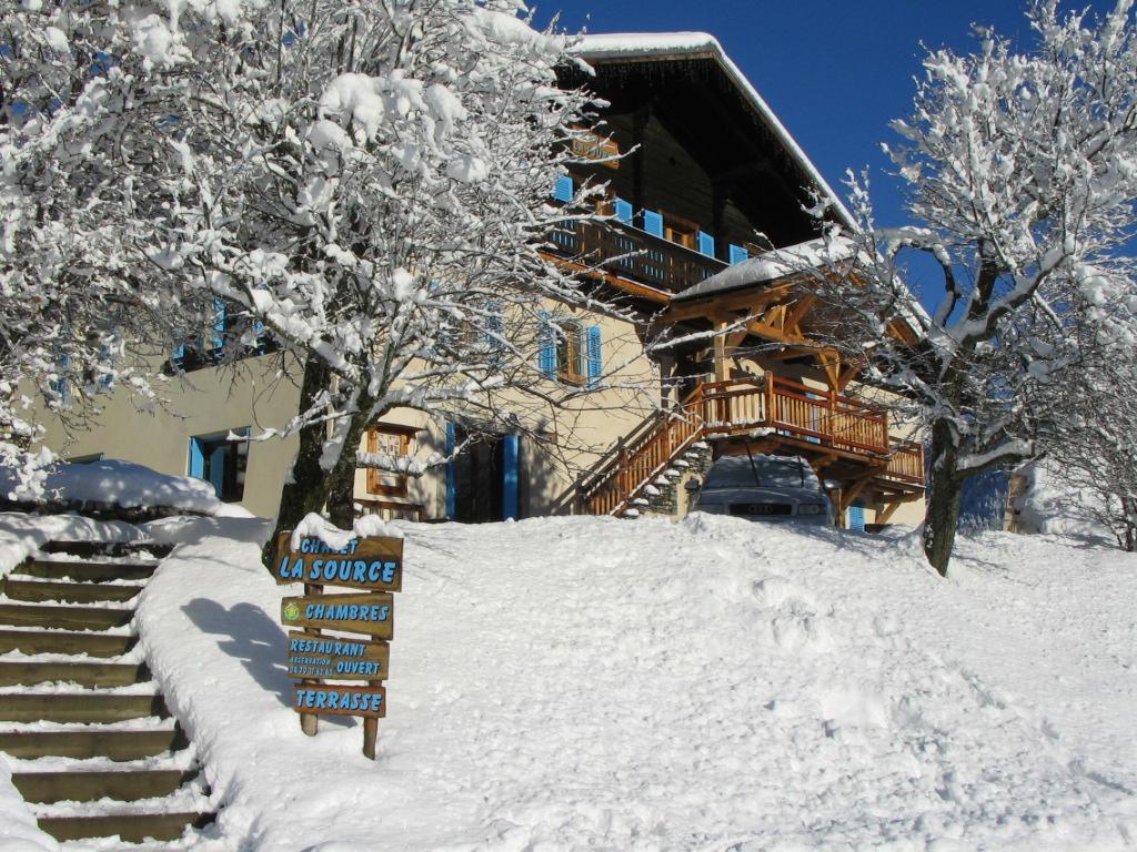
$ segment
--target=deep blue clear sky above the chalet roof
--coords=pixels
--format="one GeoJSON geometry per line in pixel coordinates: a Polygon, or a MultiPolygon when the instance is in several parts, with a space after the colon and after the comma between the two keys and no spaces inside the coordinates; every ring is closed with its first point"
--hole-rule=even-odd
{"type": "MultiPolygon", "coordinates": [[[[1067,8],[1086,5],[1112,6],[1067,8]]],[[[901,185],[880,143],[896,141],[888,124],[910,112],[921,42],[970,51],[972,23],[1023,40],[1024,9],[1019,0],[542,0],[537,20],[559,10],[571,32],[711,33],[833,189],[844,194],[845,170],[869,166],[879,223],[899,225],[901,185]]],[[[913,269],[910,283],[921,290],[926,275],[913,269]]]]}

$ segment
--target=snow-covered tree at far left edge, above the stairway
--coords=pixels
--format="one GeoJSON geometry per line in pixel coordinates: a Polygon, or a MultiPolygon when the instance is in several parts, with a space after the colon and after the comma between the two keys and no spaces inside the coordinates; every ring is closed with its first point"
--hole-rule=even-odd
{"type": "Polygon", "coordinates": [[[130,191],[86,144],[107,58],[73,50],[65,30],[82,24],[66,9],[22,7],[0,11],[0,458],[28,470],[6,496],[32,499],[31,471],[50,460],[35,412],[81,427],[124,385],[151,402],[124,345],[168,334],[179,300],[139,287],[102,204],[130,191]]]}

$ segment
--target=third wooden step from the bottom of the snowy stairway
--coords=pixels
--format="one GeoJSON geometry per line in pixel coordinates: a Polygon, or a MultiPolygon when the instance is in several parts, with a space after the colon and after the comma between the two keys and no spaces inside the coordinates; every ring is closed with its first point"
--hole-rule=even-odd
{"type": "Polygon", "coordinates": [[[141,760],[189,745],[181,728],[167,730],[14,730],[0,732],[0,751],[20,760],[107,758],[141,760]]]}

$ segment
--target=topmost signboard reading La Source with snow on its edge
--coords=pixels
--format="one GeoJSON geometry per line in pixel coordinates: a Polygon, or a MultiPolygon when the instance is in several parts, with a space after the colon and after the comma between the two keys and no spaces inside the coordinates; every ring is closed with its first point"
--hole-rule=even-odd
{"type": "Polygon", "coordinates": [[[292,550],[291,538],[292,534],[285,532],[276,540],[273,577],[280,584],[307,583],[371,592],[402,588],[401,538],[352,538],[339,550],[315,536],[306,536],[300,549],[292,550]]]}

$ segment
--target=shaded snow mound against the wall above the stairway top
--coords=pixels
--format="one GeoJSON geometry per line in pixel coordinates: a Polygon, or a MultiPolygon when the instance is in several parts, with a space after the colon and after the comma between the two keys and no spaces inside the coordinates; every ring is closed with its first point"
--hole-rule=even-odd
{"type": "MultiPolygon", "coordinates": [[[[0,493],[20,483],[19,473],[0,468],[0,493]]],[[[45,501],[64,506],[167,509],[197,515],[232,512],[213,485],[191,476],[158,474],[130,461],[107,459],[86,465],[61,462],[44,481],[45,501]]]]}

